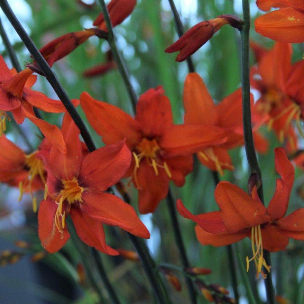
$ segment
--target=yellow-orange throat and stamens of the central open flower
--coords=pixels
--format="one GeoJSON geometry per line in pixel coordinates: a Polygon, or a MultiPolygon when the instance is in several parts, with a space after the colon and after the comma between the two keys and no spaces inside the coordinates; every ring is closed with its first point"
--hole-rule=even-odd
{"type": "Polygon", "coordinates": [[[154,172],[158,175],[158,168],[163,168],[168,177],[171,178],[171,172],[168,168],[168,165],[165,161],[161,160],[159,152],[161,151],[161,147],[158,145],[157,140],[154,138],[149,140],[147,138],[143,138],[143,140],[138,144],[135,148],[135,151],[132,152],[133,157],[135,159],[135,167],[134,167],[134,180],[136,184],[136,188],[140,189],[137,179],[137,170],[140,166],[140,161],[145,157],[149,166],[153,167],[154,172]]]}

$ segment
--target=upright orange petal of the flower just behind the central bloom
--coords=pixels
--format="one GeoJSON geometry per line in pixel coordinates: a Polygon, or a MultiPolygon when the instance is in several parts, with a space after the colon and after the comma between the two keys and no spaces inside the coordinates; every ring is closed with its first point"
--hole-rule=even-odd
{"type": "Polygon", "coordinates": [[[197,73],[189,73],[184,85],[184,108],[186,124],[215,125],[216,106],[203,79],[197,73]]]}

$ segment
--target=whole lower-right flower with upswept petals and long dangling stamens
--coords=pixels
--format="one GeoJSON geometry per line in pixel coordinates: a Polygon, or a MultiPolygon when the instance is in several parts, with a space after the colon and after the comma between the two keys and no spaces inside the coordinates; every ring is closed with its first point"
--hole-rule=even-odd
{"type": "Polygon", "coordinates": [[[257,275],[262,266],[269,271],[263,248],[268,251],[284,250],[289,237],[304,240],[304,208],[295,210],[285,217],[290,192],[294,181],[294,168],[283,148],[275,149],[275,170],[281,175],[276,181],[275,194],[268,208],[261,203],[256,186],[251,196],[242,189],[227,181],[220,182],[214,196],[220,211],[193,215],[182,204],[177,202],[179,213],[197,223],[196,236],[203,245],[224,246],[233,244],[245,237],[251,238],[253,256],[247,261],[254,261],[257,275]]]}

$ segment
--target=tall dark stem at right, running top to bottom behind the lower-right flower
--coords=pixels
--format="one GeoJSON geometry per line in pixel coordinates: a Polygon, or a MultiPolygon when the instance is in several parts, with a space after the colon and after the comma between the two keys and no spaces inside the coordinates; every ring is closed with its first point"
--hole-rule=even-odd
{"type": "MultiPolygon", "coordinates": [[[[250,68],[249,68],[249,29],[250,29],[250,8],[249,1],[243,1],[243,18],[244,26],[240,30],[242,41],[242,98],[243,98],[243,127],[244,127],[244,140],[247,161],[252,173],[257,173],[261,179],[261,169],[257,162],[257,155],[254,149],[254,142],[251,127],[251,111],[250,111],[250,68]]],[[[258,195],[264,203],[263,188],[258,189],[258,195]]],[[[268,266],[271,266],[270,253],[264,250],[265,261],[268,266]]],[[[267,301],[269,304],[274,304],[274,290],[272,285],[271,273],[267,275],[265,280],[267,301]]]]}

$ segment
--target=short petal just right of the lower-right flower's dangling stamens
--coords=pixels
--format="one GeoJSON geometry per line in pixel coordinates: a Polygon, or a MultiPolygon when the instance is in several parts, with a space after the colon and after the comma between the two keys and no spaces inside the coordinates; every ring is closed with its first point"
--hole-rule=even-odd
{"type": "Polygon", "coordinates": [[[261,226],[263,248],[275,252],[285,250],[288,245],[288,237],[278,232],[273,225],[261,226]]]}

